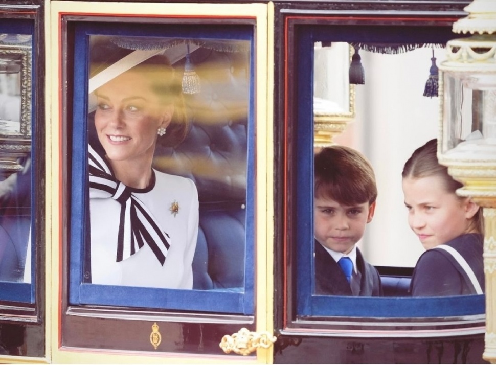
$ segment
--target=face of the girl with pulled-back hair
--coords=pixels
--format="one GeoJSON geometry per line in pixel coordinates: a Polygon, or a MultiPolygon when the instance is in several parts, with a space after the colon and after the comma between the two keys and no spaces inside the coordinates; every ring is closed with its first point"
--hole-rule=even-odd
{"type": "Polygon", "coordinates": [[[479,207],[447,192],[440,176],[403,178],[402,186],[408,223],[425,249],[475,232],[470,223],[479,207]]]}

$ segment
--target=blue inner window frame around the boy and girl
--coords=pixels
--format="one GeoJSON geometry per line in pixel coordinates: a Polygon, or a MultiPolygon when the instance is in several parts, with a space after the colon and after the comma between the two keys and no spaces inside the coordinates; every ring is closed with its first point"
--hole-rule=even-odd
{"type": "MultiPolygon", "coordinates": [[[[313,45],[317,41],[343,41],[364,43],[446,43],[452,38],[450,28],[409,26],[312,26],[297,29],[295,60],[298,85],[296,105],[295,152],[297,156],[297,187],[313,186],[313,45]]],[[[296,29],[296,28],[295,28],[296,29]]],[[[373,142],[371,142],[373,143],[373,142]]],[[[399,172],[398,172],[399,173],[399,172]]],[[[295,247],[296,316],[310,317],[362,317],[362,318],[415,318],[415,317],[462,317],[485,312],[484,295],[445,296],[432,298],[407,297],[347,297],[315,295],[313,293],[313,189],[296,190],[295,247]]]]}

